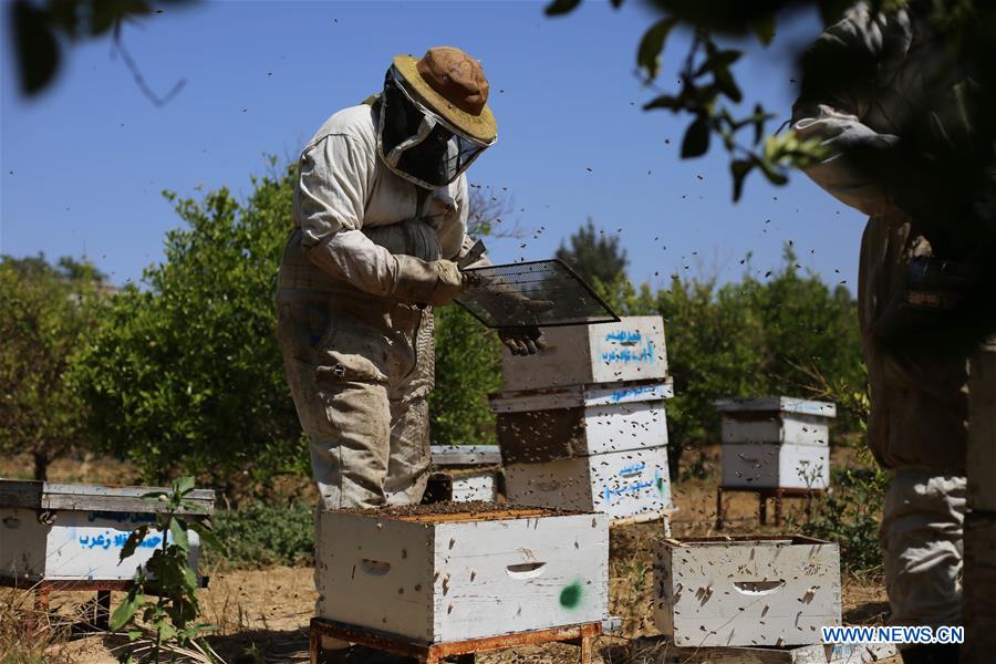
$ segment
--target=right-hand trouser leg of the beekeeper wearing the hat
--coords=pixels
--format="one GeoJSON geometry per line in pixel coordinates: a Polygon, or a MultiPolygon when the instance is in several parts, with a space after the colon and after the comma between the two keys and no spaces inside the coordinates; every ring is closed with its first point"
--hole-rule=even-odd
{"type": "Polygon", "coordinates": [[[414,369],[391,391],[391,457],[384,490],[391,505],[417,505],[429,477],[428,395],[434,385],[433,311],[417,312],[414,369]]]}

